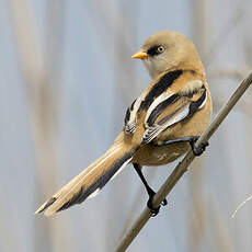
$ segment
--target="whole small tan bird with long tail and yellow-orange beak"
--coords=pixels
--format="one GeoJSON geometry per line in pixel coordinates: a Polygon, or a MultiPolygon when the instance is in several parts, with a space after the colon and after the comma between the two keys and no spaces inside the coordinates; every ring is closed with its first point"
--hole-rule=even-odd
{"type": "MultiPolygon", "coordinates": [[[[152,216],[154,191],[148,185],[142,165],[162,165],[192,148],[199,156],[206,148],[195,142],[209,124],[211,96],[205,70],[193,43],[173,31],[149,36],[131,58],[141,59],[152,81],[128,107],[125,125],[112,147],[46,201],[35,214],[50,216],[94,197],[127,164],[140,176],[152,216]]],[[[167,201],[163,199],[163,205],[167,201]]]]}

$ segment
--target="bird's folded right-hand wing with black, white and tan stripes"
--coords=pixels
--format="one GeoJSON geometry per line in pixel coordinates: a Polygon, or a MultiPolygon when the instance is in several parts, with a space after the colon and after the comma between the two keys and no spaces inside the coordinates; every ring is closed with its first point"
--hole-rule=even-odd
{"type": "Polygon", "coordinates": [[[204,107],[206,100],[207,91],[202,80],[190,81],[177,92],[168,89],[147,110],[142,144],[150,142],[168,127],[191,118],[204,107]]]}

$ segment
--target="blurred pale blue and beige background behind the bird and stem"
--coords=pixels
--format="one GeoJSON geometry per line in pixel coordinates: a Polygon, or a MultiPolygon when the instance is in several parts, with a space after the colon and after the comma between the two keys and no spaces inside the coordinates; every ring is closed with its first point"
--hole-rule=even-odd
{"type": "MultiPolygon", "coordinates": [[[[148,85],[131,60],[153,32],[197,46],[216,114],[252,66],[251,0],[0,0],[0,251],[114,251],[147,194],[128,165],[94,199],[34,210],[99,158],[148,85]]],[[[128,251],[251,251],[252,89],[128,251]]],[[[158,188],[175,163],[147,168],[158,188]]]]}

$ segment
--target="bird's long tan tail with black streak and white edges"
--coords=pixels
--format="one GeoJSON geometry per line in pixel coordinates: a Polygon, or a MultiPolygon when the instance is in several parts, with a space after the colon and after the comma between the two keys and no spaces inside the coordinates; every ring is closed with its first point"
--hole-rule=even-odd
{"type": "Polygon", "coordinates": [[[130,162],[135,152],[136,148],[127,147],[123,142],[115,142],[104,156],[47,199],[35,214],[45,211],[46,216],[50,216],[75,204],[80,204],[85,198],[94,197],[130,162]]]}

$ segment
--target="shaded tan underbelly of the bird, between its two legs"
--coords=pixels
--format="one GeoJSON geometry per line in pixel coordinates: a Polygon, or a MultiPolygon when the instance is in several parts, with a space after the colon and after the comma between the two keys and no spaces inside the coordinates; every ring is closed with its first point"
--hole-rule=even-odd
{"type": "Polygon", "coordinates": [[[131,162],[140,165],[162,165],[176,160],[184,154],[190,145],[187,142],[176,142],[160,147],[149,144],[136,152],[131,162]]]}

